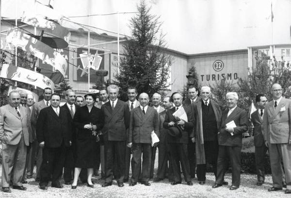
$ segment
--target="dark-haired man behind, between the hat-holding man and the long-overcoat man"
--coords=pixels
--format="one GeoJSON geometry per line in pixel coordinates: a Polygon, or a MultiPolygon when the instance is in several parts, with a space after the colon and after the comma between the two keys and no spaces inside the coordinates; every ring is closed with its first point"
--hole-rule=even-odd
{"type": "MultiPolygon", "coordinates": [[[[192,104],[200,100],[198,87],[190,85],[188,88],[188,98],[183,101],[184,108],[192,109],[192,104]]],[[[195,142],[189,139],[188,155],[190,162],[191,178],[195,178],[196,156],[195,156],[195,142]]]]}

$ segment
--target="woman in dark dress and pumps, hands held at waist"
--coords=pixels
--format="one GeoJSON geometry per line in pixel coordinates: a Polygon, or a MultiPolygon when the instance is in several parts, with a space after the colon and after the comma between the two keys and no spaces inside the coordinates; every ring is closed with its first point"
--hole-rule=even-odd
{"type": "Polygon", "coordinates": [[[77,181],[82,168],[87,169],[87,184],[92,184],[93,168],[97,162],[96,131],[103,127],[101,110],[94,106],[96,96],[87,94],[84,96],[86,105],[78,108],[74,116],[74,125],[78,128],[77,158],[75,161],[75,173],[72,189],[77,188],[77,181]]]}

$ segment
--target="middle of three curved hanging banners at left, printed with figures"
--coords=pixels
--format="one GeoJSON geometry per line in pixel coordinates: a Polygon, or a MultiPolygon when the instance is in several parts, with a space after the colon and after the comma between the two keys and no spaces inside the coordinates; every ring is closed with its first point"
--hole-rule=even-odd
{"type": "Polygon", "coordinates": [[[8,30],[6,42],[12,43],[16,47],[21,47],[22,50],[40,58],[45,63],[53,66],[55,70],[60,71],[65,77],[67,68],[65,58],[43,42],[16,29],[8,30]]]}

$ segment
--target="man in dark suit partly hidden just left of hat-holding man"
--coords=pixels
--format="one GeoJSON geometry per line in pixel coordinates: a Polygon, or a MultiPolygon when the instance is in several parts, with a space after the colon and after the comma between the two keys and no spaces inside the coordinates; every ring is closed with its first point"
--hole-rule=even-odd
{"type": "Polygon", "coordinates": [[[160,120],[160,142],[158,145],[159,148],[159,161],[158,161],[158,173],[155,178],[155,182],[159,182],[166,177],[168,173],[168,179],[170,182],[173,180],[173,168],[170,161],[170,150],[167,142],[167,133],[168,129],[163,127],[163,122],[165,120],[166,112],[169,109],[173,108],[173,99],[170,96],[167,96],[162,101],[164,110],[159,113],[160,120]],[[169,164],[169,166],[168,166],[169,164]]]}

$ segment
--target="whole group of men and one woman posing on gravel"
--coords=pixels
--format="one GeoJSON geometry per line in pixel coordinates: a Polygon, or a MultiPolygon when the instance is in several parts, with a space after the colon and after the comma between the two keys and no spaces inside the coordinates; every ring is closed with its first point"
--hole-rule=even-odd
{"type": "MultiPolygon", "coordinates": [[[[291,100],[282,97],[282,87],[271,88],[273,100],[267,103],[258,95],[258,110],[251,115],[254,125],[258,182],[264,183],[264,156],[269,150],[273,187],[291,193],[291,100]],[[282,168],[282,163],[284,170],[282,168]]],[[[237,106],[236,92],[226,94],[227,109],[210,99],[210,87],[190,86],[188,99],[180,93],[163,98],[155,93],[152,105],[149,96],[135,87],[127,90],[129,100],[117,98],[119,88],[109,85],[94,94],[77,96],[65,92],[61,97],[44,89],[44,99],[33,104],[33,96],[25,92],[9,93],[9,104],[0,107],[0,141],[2,142],[2,191],[26,190],[26,178],[32,178],[36,161],[36,181],[40,189],[77,188],[78,179],[94,187],[92,175],[101,165],[102,187],[113,184],[123,187],[138,183],[151,185],[158,147],[158,171],[154,179],[168,178],[172,185],[181,184],[181,170],[187,185],[205,184],[207,164],[212,165],[215,184],[224,180],[231,167],[230,190],[238,189],[241,174],[242,134],[248,130],[247,113],[237,106]],[[85,103],[85,105],[83,104],[85,103]],[[159,141],[153,141],[158,137],[159,141]],[[35,155],[37,154],[37,155],[35,155]],[[36,156],[36,159],[35,159],[36,156]],[[229,161],[229,163],[228,163],[229,161]],[[129,168],[131,163],[131,178],[129,168]]]]}

